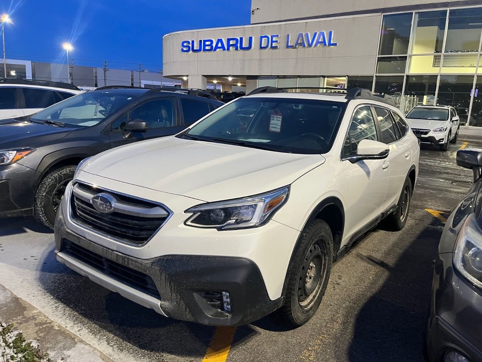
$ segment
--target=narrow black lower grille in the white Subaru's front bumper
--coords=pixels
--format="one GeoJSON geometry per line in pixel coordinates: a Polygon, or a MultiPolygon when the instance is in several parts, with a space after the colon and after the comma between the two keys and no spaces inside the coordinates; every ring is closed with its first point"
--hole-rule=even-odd
{"type": "Polygon", "coordinates": [[[129,287],[137,289],[140,292],[149,294],[154,298],[160,299],[159,291],[157,290],[154,280],[144,273],[130,269],[125,265],[116,263],[110,259],[104,258],[101,255],[85,249],[70,240],[64,239],[62,243],[62,252],[80,260],[92,268],[102,272],[111,278],[120,281],[129,287]]]}

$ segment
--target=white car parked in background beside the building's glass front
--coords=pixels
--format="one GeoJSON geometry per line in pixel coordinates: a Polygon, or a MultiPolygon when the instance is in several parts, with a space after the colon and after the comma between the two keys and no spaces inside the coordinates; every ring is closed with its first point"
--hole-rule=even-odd
{"type": "Polygon", "coordinates": [[[460,122],[452,106],[416,106],[407,114],[407,122],[420,142],[449,149],[458,139],[460,122]]]}

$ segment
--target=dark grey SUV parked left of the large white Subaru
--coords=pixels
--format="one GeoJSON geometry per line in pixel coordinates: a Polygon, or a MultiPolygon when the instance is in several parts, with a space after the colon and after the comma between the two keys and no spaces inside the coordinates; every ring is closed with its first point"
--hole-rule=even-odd
{"type": "Polygon", "coordinates": [[[78,94],[29,117],[0,121],[0,217],[33,213],[53,228],[81,160],[176,134],[220,105],[183,93],[114,86],[78,94]]]}

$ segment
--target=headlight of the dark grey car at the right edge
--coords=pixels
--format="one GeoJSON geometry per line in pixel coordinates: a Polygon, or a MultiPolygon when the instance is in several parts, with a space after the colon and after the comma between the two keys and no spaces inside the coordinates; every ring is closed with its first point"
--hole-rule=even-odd
{"type": "Polygon", "coordinates": [[[476,287],[482,288],[482,232],[471,214],[458,235],[454,251],[455,268],[476,287]]]}

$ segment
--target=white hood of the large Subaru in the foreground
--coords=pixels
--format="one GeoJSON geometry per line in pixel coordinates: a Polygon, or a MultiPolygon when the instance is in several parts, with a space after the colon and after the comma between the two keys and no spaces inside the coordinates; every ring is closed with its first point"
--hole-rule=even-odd
{"type": "Polygon", "coordinates": [[[324,162],[321,155],[286,154],[171,136],[106,151],[89,159],[81,169],[157,191],[219,201],[289,185],[324,162]]]}

